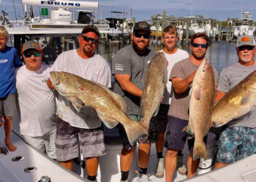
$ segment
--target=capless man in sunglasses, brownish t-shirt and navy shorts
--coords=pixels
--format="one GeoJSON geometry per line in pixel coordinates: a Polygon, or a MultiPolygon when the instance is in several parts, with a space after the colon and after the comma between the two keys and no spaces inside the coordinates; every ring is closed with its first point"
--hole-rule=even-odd
{"type": "MultiPolygon", "coordinates": [[[[170,108],[168,111],[168,123],[165,134],[164,145],[167,148],[165,155],[165,181],[173,181],[173,173],[177,167],[178,151],[184,148],[187,132],[182,132],[189,120],[189,90],[197,72],[197,68],[205,59],[206,51],[210,39],[206,33],[196,33],[190,39],[190,50],[192,54],[189,58],[175,63],[170,72],[173,93],[170,108]]],[[[214,68],[215,85],[218,82],[218,73],[214,68]]],[[[195,176],[200,159],[193,160],[193,146],[195,138],[188,140],[189,157],[187,159],[187,178],[195,176]]],[[[206,137],[204,138],[206,143],[206,137]]]]}

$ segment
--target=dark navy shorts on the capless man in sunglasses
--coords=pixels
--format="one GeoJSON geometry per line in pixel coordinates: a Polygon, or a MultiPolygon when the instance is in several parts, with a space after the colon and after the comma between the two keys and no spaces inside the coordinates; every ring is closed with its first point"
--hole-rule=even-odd
{"type": "MultiPolygon", "coordinates": [[[[187,126],[189,122],[185,119],[179,119],[177,117],[168,116],[167,130],[165,132],[165,142],[164,146],[167,149],[181,151],[184,149],[184,145],[187,140],[188,133],[182,132],[184,127],[187,126]]],[[[207,142],[207,135],[203,138],[204,143],[207,142]]],[[[189,151],[193,153],[195,138],[187,140],[189,151]]]]}

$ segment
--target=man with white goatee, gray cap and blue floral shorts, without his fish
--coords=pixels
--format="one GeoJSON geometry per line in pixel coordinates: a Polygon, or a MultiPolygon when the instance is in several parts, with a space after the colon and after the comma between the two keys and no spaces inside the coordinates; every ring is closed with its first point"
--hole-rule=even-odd
{"type": "MultiPolygon", "coordinates": [[[[236,43],[238,62],[224,68],[219,76],[215,102],[256,70],[254,36],[240,36],[236,43]]],[[[226,124],[219,135],[215,169],[256,153],[256,110],[226,124]]]]}

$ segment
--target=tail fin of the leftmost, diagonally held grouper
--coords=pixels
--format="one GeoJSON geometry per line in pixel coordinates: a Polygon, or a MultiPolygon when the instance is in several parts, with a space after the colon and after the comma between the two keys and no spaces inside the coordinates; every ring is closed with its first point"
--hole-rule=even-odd
{"type": "Polygon", "coordinates": [[[123,124],[123,126],[124,130],[127,132],[127,138],[129,140],[129,143],[131,143],[131,145],[133,146],[140,137],[148,135],[148,132],[141,124],[135,122],[135,120],[129,120],[130,121],[127,122],[127,124],[123,124]]]}

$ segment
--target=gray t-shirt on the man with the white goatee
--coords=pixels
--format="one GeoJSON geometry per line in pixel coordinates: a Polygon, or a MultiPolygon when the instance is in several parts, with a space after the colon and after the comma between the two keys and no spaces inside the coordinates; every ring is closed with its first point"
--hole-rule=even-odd
{"type": "MultiPolygon", "coordinates": [[[[219,84],[217,91],[228,92],[233,89],[239,82],[241,82],[246,76],[255,71],[256,64],[254,66],[243,66],[239,62],[233,63],[222,70],[219,75],[219,84]]],[[[228,122],[227,125],[236,125],[241,127],[256,127],[256,109],[244,116],[233,119],[228,122]]]]}

